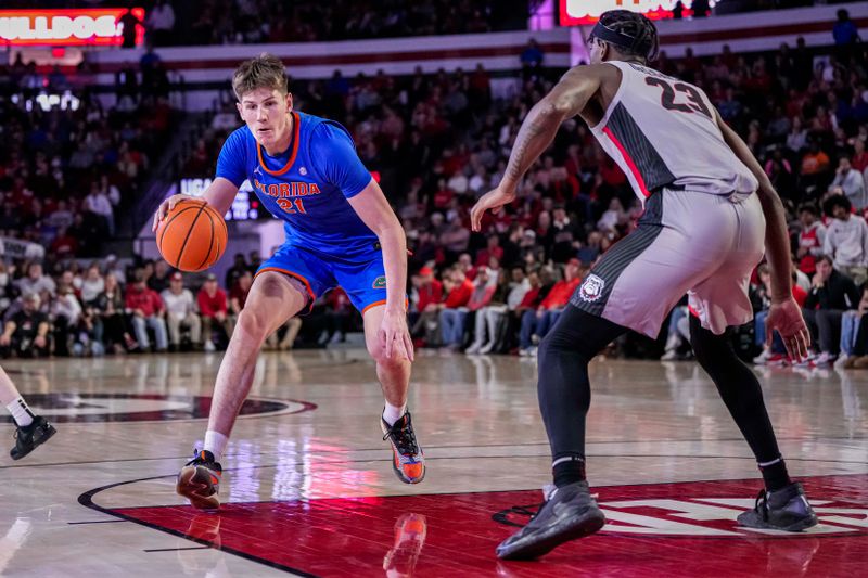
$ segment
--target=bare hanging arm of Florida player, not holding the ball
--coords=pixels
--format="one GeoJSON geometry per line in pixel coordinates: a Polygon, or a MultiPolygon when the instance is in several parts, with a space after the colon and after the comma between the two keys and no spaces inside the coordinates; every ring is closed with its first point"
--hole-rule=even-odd
{"type": "Polygon", "coordinates": [[[348,200],[359,218],[374,232],[383,252],[386,272],[386,310],[381,326],[386,357],[413,360],[413,343],[407,327],[407,236],[380,185],[371,179],[348,200]]]}

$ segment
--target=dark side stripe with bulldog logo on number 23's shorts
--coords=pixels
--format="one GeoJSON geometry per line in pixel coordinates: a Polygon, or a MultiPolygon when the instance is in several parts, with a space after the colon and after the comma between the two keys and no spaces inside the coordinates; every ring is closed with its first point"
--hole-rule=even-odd
{"type": "Polygon", "coordinates": [[[646,202],[646,211],[642,218],[639,219],[639,227],[622,241],[615,243],[612,248],[605,252],[591,270],[590,274],[578,286],[570,298],[570,303],[578,307],[583,311],[591,313],[597,317],[603,314],[605,305],[609,301],[609,295],[612,293],[617,282],[617,278],[636,258],[642,254],[654,240],[663,231],[663,195],[661,191],[651,195],[646,202]],[[583,294],[586,290],[586,283],[590,283],[591,278],[597,277],[602,280],[602,290],[599,296],[592,296],[590,300],[587,294],[583,294]]]}

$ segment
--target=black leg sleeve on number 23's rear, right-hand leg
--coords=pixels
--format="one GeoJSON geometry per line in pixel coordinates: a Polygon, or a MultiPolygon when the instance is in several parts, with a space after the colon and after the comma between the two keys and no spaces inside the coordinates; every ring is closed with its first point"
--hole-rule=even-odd
{"type": "Polygon", "coordinates": [[[702,329],[699,319],[692,314],[690,343],[697,361],[714,381],[736,425],[756,455],[768,489],[788,485],[790,479],[780,459],[778,441],[756,375],[736,356],[726,335],[715,335],[702,329]]]}

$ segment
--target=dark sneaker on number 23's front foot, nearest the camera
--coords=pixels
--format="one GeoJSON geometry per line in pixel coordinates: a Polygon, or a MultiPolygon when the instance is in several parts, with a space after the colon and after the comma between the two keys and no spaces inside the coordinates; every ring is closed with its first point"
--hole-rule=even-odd
{"type": "Polygon", "coordinates": [[[558,488],[527,525],[497,547],[500,560],[532,560],[570,540],[589,536],[605,524],[587,481],[558,488]]]}

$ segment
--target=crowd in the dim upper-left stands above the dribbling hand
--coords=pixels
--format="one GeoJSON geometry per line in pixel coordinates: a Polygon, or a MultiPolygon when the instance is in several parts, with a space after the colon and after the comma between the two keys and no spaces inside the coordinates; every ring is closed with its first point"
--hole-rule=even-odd
{"type": "Polygon", "coordinates": [[[40,73],[21,53],[0,65],[0,236],[59,258],[98,256],[115,236],[176,114],[128,76],[105,108],[88,90],[71,90],[56,67],[40,73]]]}

